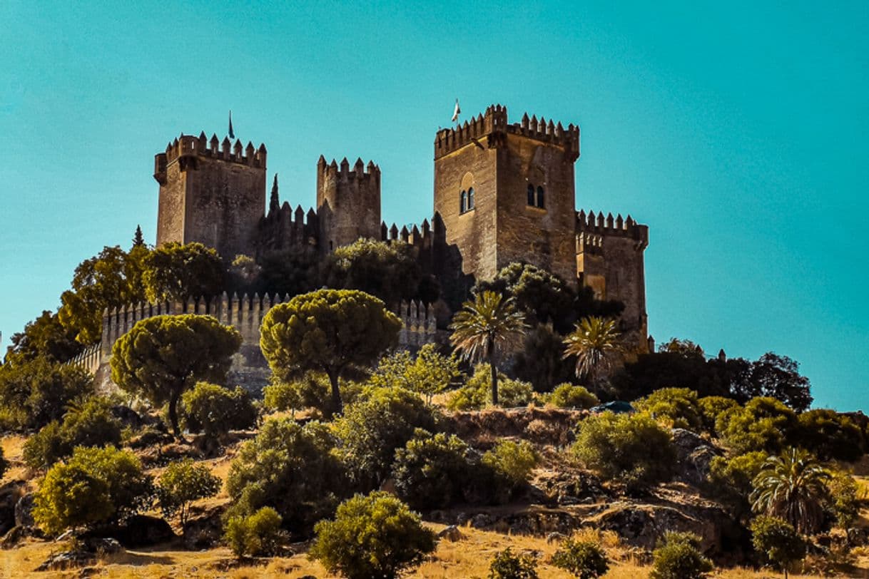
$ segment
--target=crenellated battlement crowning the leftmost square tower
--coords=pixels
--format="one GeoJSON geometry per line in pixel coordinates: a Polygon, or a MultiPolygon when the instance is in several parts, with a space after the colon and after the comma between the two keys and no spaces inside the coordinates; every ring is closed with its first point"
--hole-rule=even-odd
{"type": "Polygon", "coordinates": [[[242,141],[236,139],[235,144],[229,141],[229,137],[223,137],[223,141],[217,139],[217,135],[211,135],[211,139],[201,132],[198,137],[184,135],[183,133],[174,141],[166,145],[163,153],[154,156],[154,178],[161,185],[166,184],[166,168],[174,162],[178,162],[182,170],[197,168],[198,157],[209,157],[220,161],[238,163],[255,168],[266,168],[266,146],[260,143],[259,148],[248,141],[247,147],[242,141]]]}

